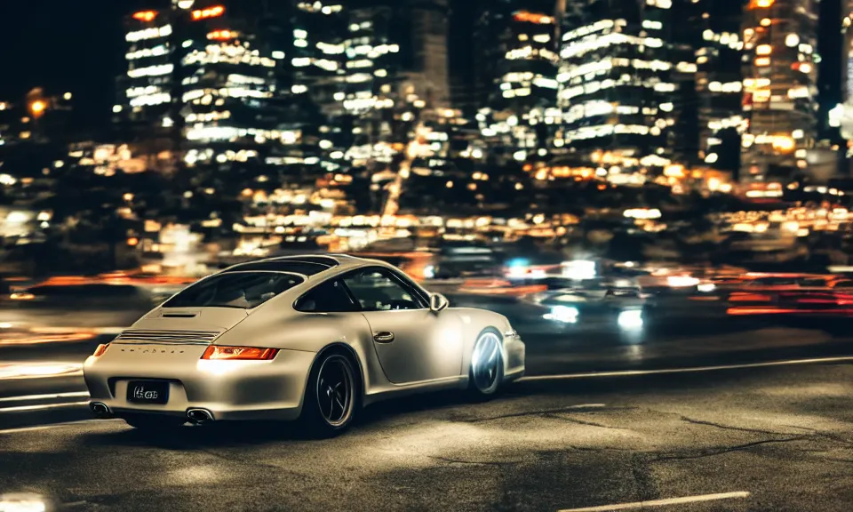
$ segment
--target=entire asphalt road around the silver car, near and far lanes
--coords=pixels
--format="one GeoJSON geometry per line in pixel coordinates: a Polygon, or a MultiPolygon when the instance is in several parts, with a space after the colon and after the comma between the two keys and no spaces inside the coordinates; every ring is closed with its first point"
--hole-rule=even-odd
{"type": "Polygon", "coordinates": [[[109,334],[0,332],[0,494],[68,510],[853,509],[846,320],[682,304],[624,331],[490,306],[522,333],[528,378],[485,404],[379,404],[324,441],[287,425],[160,437],[88,420],[79,364],[109,334]]]}

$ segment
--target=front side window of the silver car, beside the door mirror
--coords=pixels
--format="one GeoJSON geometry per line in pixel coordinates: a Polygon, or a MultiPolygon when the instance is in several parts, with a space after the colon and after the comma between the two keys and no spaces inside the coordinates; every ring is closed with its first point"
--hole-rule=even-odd
{"type": "Polygon", "coordinates": [[[344,283],[364,311],[426,308],[417,293],[410,291],[385,270],[364,270],[344,277],[344,283]]]}

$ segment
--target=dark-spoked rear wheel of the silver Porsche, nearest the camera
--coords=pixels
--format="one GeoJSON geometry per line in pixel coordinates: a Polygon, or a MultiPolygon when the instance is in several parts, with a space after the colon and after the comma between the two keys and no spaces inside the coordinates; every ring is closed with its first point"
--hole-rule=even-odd
{"type": "Polygon", "coordinates": [[[359,396],[352,358],[337,350],[326,352],[311,368],[299,421],[308,436],[337,436],[352,424],[359,396]]]}

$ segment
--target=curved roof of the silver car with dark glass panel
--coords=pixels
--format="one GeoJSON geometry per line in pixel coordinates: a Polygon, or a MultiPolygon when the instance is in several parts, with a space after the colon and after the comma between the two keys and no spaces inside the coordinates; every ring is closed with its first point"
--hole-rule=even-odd
{"type": "Polygon", "coordinates": [[[266,271],[286,272],[290,274],[298,274],[299,276],[311,277],[319,275],[325,276],[327,274],[341,274],[353,268],[365,267],[368,265],[391,267],[384,261],[367,260],[364,258],[349,256],[347,254],[310,254],[304,256],[282,256],[239,263],[222,270],[219,274],[230,272],[266,271]],[[330,272],[331,270],[333,270],[333,272],[330,272]]]}

